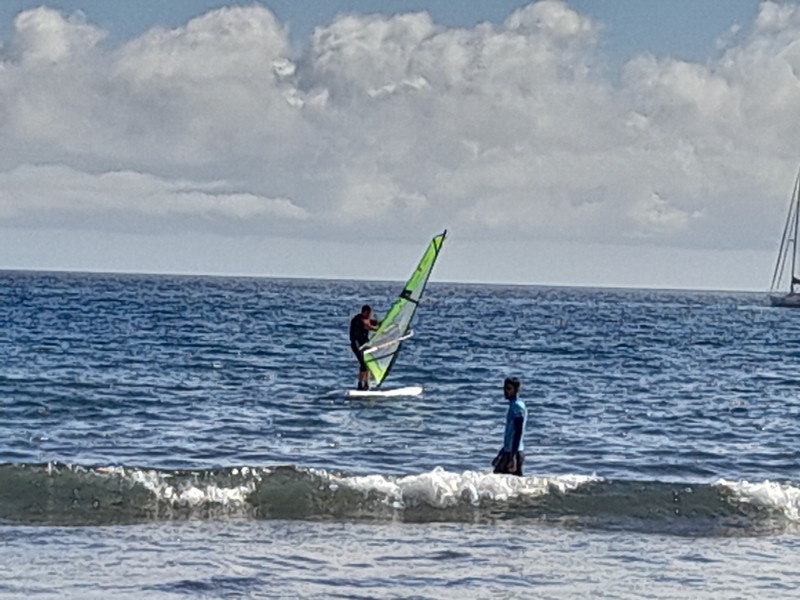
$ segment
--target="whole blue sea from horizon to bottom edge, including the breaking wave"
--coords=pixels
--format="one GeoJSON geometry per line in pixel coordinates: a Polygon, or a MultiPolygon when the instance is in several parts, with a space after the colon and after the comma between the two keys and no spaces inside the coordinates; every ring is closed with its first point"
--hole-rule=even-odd
{"type": "Polygon", "coordinates": [[[0,597],[796,595],[800,311],[433,282],[348,398],[399,288],[0,273],[0,597]]]}

